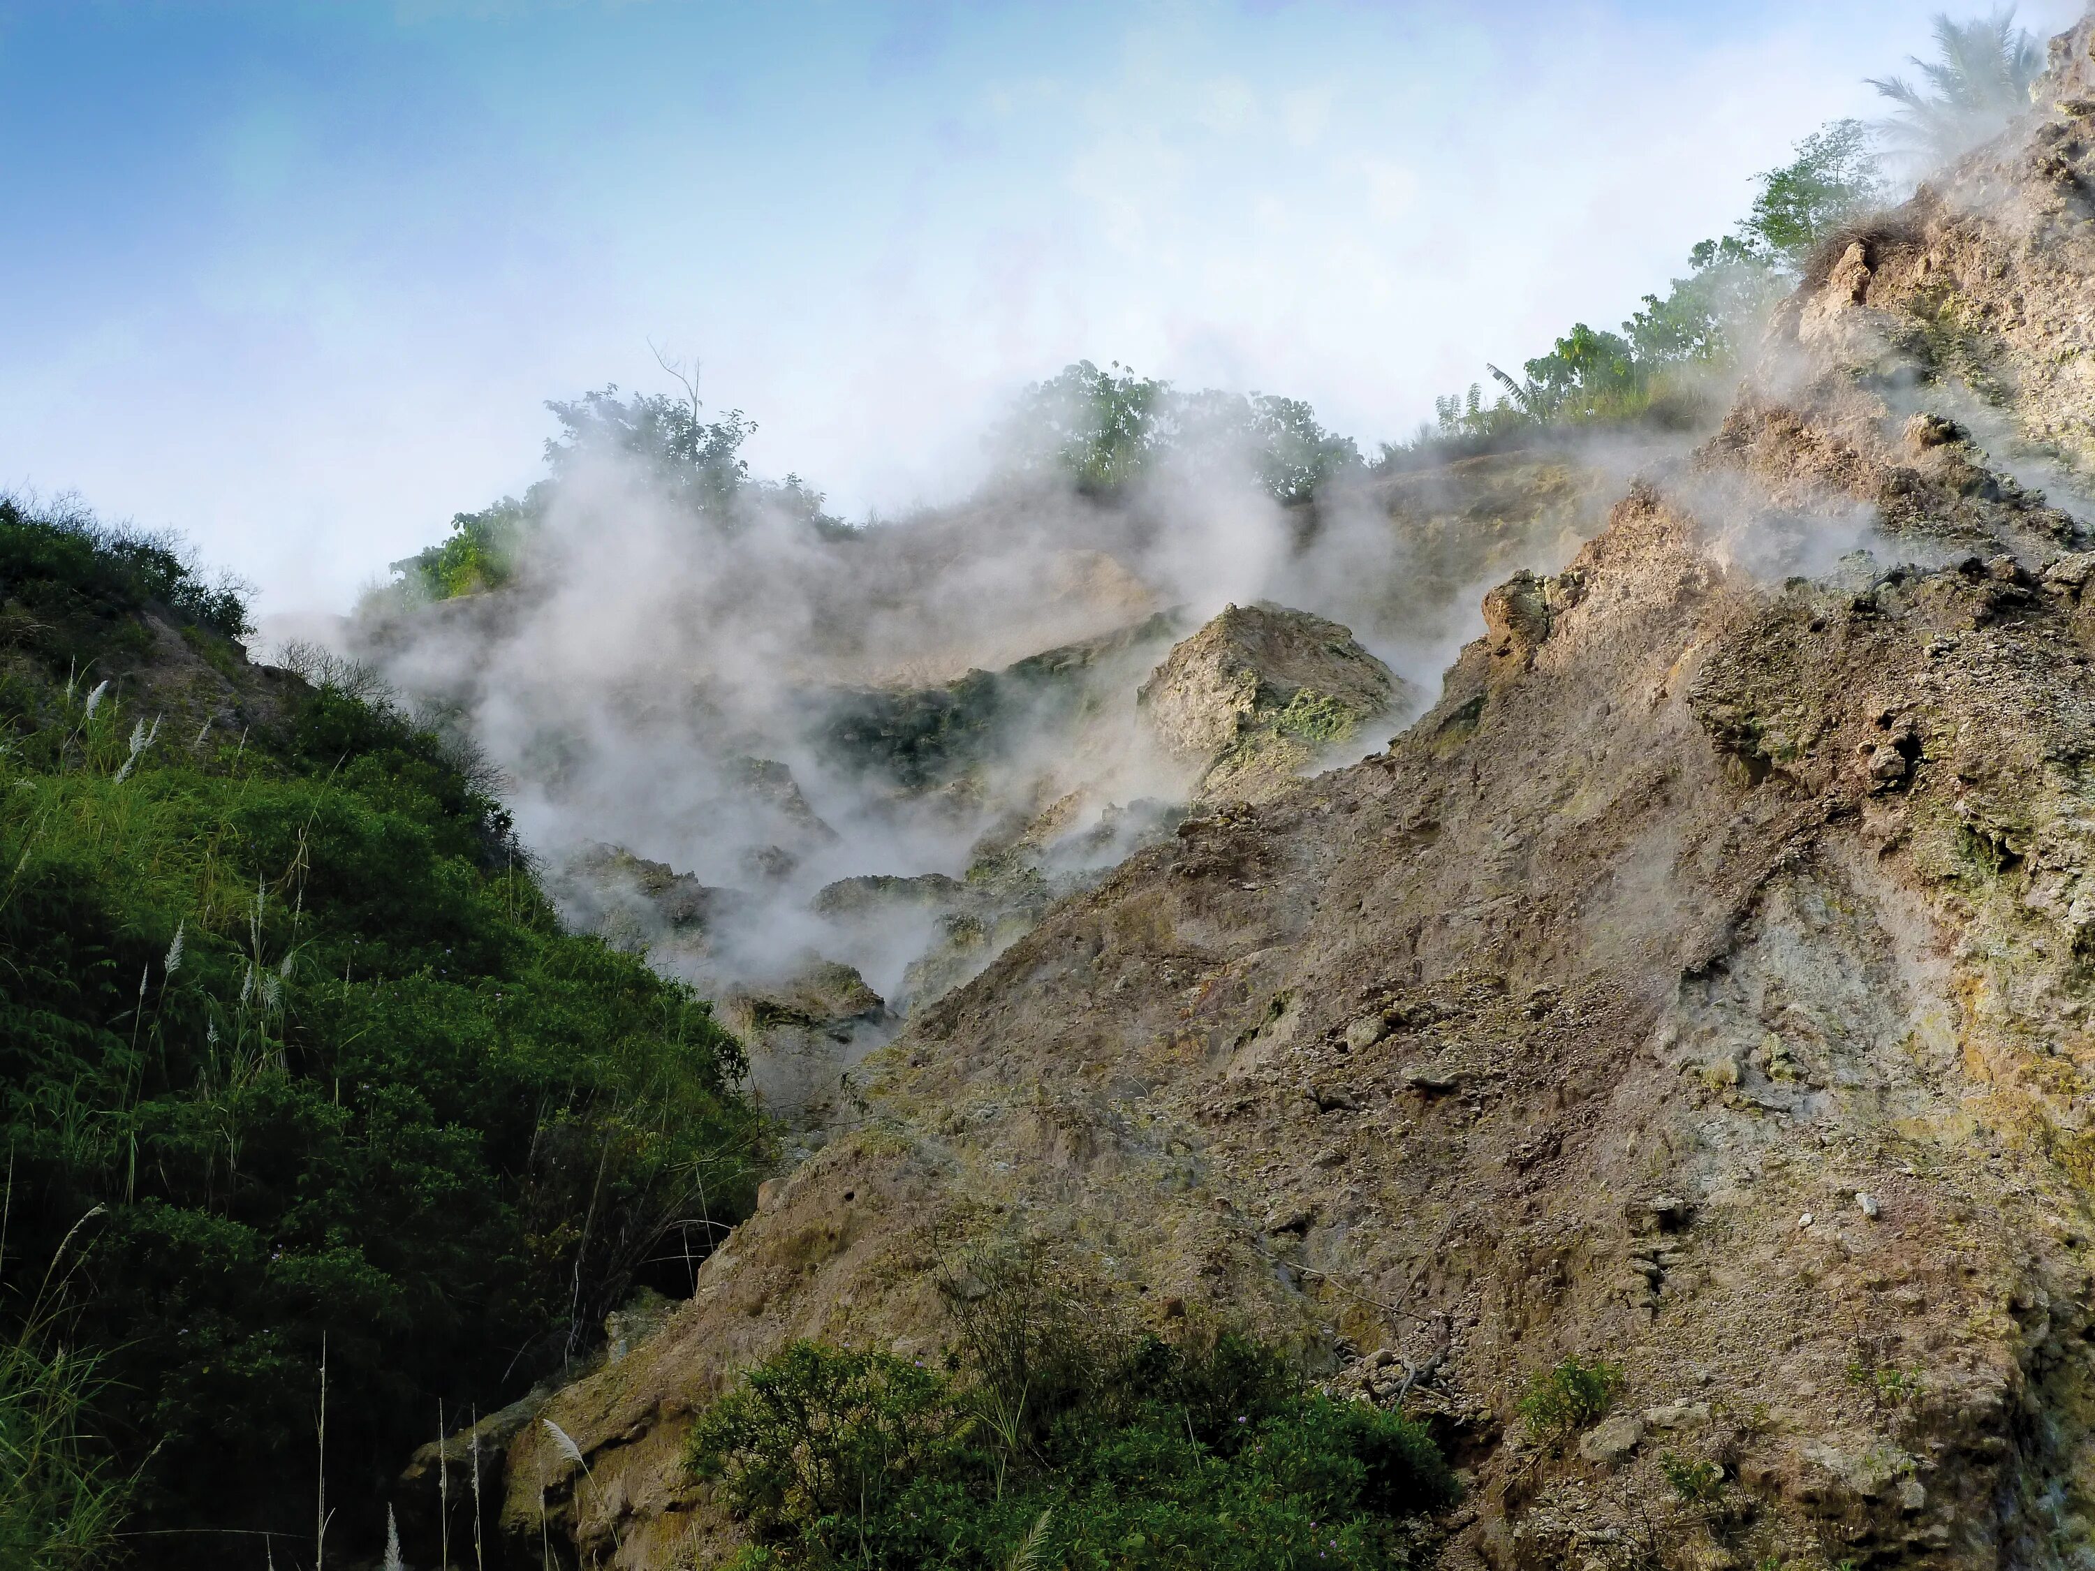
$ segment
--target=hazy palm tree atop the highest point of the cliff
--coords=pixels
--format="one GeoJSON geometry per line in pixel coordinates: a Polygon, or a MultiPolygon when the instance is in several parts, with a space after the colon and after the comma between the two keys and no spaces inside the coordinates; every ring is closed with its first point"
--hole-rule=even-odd
{"type": "Polygon", "coordinates": [[[2028,109],[2045,69],[2036,40],[2015,25],[2013,6],[1961,23],[1938,13],[1934,34],[1938,59],[1913,57],[1919,84],[1896,75],[1869,80],[1898,105],[1879,132],[1923,170],[1978,147],[2028,109]]]}

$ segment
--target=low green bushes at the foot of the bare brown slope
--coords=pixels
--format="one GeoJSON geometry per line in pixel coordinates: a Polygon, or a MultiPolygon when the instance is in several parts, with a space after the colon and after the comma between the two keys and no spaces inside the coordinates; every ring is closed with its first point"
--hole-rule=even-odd
{"type": "Polygon", "coordinates": [[[1454,1498],[1423,1429],[1272,1347],[1133,1332],[1024,1257],[945,1286],[943,1368],[794,1343],[702,1416],[744,1567],[1395,1567],[1454,1498]]]}

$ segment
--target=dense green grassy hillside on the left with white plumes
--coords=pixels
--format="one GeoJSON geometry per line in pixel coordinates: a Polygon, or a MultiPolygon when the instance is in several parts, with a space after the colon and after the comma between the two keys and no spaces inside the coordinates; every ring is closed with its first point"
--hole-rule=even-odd
{"type": "Polygon", "coordinates": [[[706,1005],[564,934],[469,760],[358,672],[245,666],[224,593],[0,505],[0,1445],[92,1403],[69,1477],[138,1473],[155,1565],[310,1535],[323,1345],[369,1542],[438,1399],[488,1412],[635,1282],[687,1288],[760,1154],[706,1005]],[[86,1351],[46,1357],[25,1263],[82,1217],[86,1351]]]}

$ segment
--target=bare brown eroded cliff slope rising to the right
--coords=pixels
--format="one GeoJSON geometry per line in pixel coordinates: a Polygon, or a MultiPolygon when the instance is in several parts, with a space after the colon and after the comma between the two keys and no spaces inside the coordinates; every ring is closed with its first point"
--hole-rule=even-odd
{"type": "Polygon", "coordinates": [[[553,1399],[589,1481],[520,1437],[511,1521],[710,1563],[693,1410],[790,1336],[941,1345],[941,1240],[1031,1232],[1429,1416],[1446,1565],[1653,1521],[1678,1565],[2089,1565],[2089,46],[1833,249],[1691,463],[1494,591],[1387,754],[1186,821],[869,1060],[553,1399]],[[1565,1353],[1628,1391],[1557,1454],[1515,1401],[1565,1353]]]}

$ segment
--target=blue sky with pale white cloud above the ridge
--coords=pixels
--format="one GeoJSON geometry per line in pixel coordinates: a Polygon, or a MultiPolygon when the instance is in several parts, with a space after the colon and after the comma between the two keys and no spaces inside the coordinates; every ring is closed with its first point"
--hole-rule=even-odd
{"type": "Polygon", "coordinates": [[[664,388],[649,344],[855,517],[1079,356],[1372,446],[1663,287],[1927,15],[0,0],[0,486],[285,614],[528,484],[543,398],[664,388]]]}

